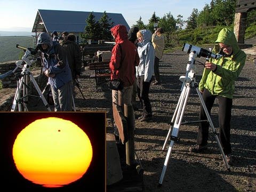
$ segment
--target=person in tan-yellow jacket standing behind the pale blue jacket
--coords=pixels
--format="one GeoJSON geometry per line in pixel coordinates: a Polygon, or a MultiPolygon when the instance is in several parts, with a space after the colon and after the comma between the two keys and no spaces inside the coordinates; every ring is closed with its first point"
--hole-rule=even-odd
{"type": "Polygon", "coordinates": [[[162,27],[159,27],[155,31],[155,33],[152,35],[152,43],[155,49],[155,61],[154,61],[155,81],[152,83],[153,85],[161,84],[160,74],[159,74],[159,61],[163,55],[164,42],[166,39],[163,33],[164,33],[164,29],[162,27]]]}

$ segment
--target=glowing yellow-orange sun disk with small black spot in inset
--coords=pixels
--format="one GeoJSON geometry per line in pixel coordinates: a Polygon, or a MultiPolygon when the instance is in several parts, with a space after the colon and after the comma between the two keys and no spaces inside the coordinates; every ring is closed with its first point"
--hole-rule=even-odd
{"type": "Polygon", "coordinates": [[[84,175],[92,161],[92,146],[76,124],[50,117],[36,120],[18,134],[13,159],[26,179],[61,187],[84,175]]]}

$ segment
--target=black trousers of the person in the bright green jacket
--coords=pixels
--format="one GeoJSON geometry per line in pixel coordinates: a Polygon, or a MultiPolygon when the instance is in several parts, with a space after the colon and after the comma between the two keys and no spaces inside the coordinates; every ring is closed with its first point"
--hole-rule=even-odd
{"type": "MultiPolygon", "coordinates": [[[[225,155],[231,153],[230,145],[230,121],[231,121],[231,108],[233,105],[233,99],[225,98],[219,95],[212,95],[210,91],[204,89],[203,100],[207,108],[208,113],[211,115],[211,109],[213,107],[215,99],[219,102],[219,138],[225,155]]],[[[201,103],[199,121],[207,120],[206,113],[201,103]]],[[[209,136],[209,122],[199,123],[197,145],[207,145],[209,136]]]]}

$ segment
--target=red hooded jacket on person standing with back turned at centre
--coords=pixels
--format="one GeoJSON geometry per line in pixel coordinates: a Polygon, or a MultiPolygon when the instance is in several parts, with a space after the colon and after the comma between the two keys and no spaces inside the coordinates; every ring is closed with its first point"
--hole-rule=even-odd
{"type": "Polygon", "coordinates": [[[140,62],[137,47],[128,40],[127,29],[124,25],[116,25],[110,30],[116,41],[109,63],[111,79],[122,79],[125,87],[131,86],[134,83],[135,66],[138,66],[140,62]],[[122,68],[120,67],[121,61],[122,68]]]}

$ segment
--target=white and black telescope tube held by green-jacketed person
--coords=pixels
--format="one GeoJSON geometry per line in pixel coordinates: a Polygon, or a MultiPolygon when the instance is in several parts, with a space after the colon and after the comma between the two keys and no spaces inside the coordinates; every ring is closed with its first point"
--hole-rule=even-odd
{"type": "Polygon", "coordinates": [[[185,51],[187,53],[191,53],[192,51],[195,51],[198,58],[204,57],[204,58],[208,58],[208,59],[210,59],[210,58],[219,59],[223,55],[223,49],[220,49],[220,52],[218,54],[215,54],[215,53],[212,53],[211,50],[206,50],[201,47],[197,47],[197,46],[190,45],[187,43],[183,44],[182,51],[185,51]]]}

